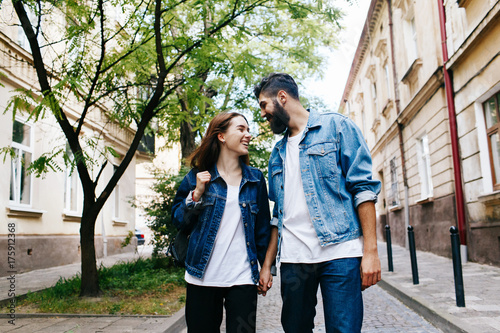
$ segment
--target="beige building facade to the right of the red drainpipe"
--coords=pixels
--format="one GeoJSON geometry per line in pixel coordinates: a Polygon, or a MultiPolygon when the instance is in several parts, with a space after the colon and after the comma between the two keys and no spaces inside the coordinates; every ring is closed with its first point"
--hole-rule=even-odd
{"type": "Polygon", "coordinates": [[[469,258],[500,265],[500,1],[445,1],[469,258]]]}

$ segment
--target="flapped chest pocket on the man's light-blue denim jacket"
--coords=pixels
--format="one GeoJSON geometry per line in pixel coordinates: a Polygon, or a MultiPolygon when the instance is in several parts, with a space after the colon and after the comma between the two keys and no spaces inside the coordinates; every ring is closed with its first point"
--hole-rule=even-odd
{"type": "Polygon", "coordinates": [[[310,146],[305,153],[320,178],[335,177],[337,171],[337,144],[322,142],[310,146]]]}

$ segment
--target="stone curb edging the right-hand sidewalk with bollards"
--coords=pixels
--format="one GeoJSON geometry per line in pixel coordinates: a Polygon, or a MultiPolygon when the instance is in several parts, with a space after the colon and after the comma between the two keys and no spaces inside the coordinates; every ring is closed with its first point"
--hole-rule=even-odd
{"type": "Polygon", "coordinates": [[[422,301],[416,296],[406,294],[387,280],[382,279],[377,285],[445,333],[481,333],[463,322],[459,323],[460,327],[457,326],[447,314],[433,310],[425,304],[425,301],[422,301]]]}

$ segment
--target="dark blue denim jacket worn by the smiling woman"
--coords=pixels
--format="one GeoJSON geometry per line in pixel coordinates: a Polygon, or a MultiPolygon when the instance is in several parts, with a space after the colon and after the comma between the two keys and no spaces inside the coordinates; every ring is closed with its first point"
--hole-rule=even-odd
{"type": "MultiPolygon", "coordinates": [[[[202,199],[198,202],[187,200],[186,204],[187,196],[196,188],[197,172],[196,169],[192,169],[177,190],[172,208],[172,221],[178,229],[192,229],[186,256],[186,270],[189,274],[202,278],[214,248],[215,237],[226,205],[227,185],[214,166],[209,170],[211,180],[202,199]]],[[[262,266],[271,228],[266,180],[262,172],[242,163],[239,193],[252,279],[254,283],[258,283],[257,261],[262,266]]]]}

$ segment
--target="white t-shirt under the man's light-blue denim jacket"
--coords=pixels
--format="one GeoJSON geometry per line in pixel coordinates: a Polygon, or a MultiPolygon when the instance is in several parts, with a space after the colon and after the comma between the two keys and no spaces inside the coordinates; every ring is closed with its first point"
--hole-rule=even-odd
{"type": "Polygon", "coordinates": [[[303,131],[288,137],[285,159],[285,197],[281,262],[312,264],[333,259],[361,257],[362,237],[321,246],[307,207],[299,163],[299,142],[303,131]]]}

